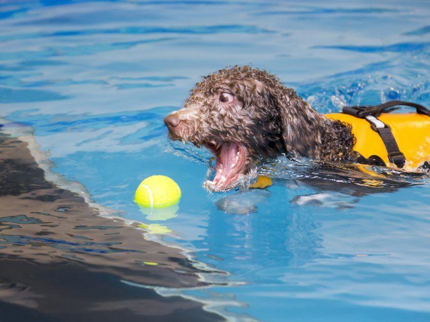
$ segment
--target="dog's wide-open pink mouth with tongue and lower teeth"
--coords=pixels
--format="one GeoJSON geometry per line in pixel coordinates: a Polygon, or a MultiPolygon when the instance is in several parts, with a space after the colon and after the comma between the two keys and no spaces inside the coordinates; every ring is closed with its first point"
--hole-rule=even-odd
{"type": "Polygon", "coordinates": [[[215,177],[206,181],[212,190],[227,190],[234,187],[243,175],[246,160],[246,148],[240,143],[224,142],[221,146],[206,145],[216,156],[217,166],[215,177]]]}

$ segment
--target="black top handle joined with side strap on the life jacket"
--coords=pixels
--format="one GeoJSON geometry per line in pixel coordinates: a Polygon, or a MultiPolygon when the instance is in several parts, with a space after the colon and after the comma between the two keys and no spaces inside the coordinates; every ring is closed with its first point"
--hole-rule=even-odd
{"type": "Polygon", "coordinates": [[[343,107],[342,111],[345,114],[349,114],[359,118],[365,118],[371,124],[372,130],[378,132],[379,136],[382,139],[382,142],[384,142],[385,149],[388,153],[389,162],[395,164],[399,168],[403,168],[406,162],[406,158],[405,155],[400,151],[396,139],[391,133],[391,129],[385,123],[381,122],[381,120],[376,118],[377,116],[381,115],[381,113],[387,108],[399,105],[415,107],[417,113],[430,116],[430,110],[428,110],[426,107],[420,104],[404,101],[389,101],[375,106],[345,106],[343,107]]]}

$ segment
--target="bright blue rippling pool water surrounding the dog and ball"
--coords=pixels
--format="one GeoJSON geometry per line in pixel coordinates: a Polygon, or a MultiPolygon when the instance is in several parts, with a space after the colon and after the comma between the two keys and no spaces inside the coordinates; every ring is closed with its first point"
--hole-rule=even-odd
{"type": "Polygon", "coordinates": [[[428,321],[429,179],[369,188],[279,160],[265,190],[210,193],[210,155],[169,142],[162,118],[200,75],[247,63],[320,112],[429,106],[429,16],[427,1],[2,2],[0,111],[32,126],[53,170],[95,202],[166,226],[166,242],[228,272],[207,278],[230,286],[181,291],[212,309],[265,321],[428,321]],[[133,203],[153,174],[181,186],[176,217],[147,218],[133,203]]]}

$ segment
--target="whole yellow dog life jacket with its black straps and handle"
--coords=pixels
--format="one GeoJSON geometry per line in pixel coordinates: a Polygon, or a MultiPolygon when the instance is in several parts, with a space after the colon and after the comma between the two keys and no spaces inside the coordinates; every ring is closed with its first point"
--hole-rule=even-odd
{"type": "Polygon", "coordinates": [[[351,126],[359,163],[414,171],[430,160],[430,111],[422,105],[390,101],[376,106],[348,106],[343,113],[324,116],[351,126]],[[387,108],[407,105],[416,113],[387,113],[387,108]]]}

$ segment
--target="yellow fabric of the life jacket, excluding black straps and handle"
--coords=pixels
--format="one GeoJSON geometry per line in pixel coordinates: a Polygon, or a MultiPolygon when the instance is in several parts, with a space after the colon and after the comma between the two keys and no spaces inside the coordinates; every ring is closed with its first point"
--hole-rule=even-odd
{"type": "MultiPolygon", "coordinates": [[[[386,166],[395,167],[388,160],[387,150],[377,132],[373,131],[364,118],[344,113],[324,114],[324,116],[345,122],[352,127],[356,142],[353,149],[365,158],[379,156],[386,166]]],[[[419,113],[382,113],[378,119],[388,125],[396,139],[399,150],[406,158],[403,169],[414,171],[430,160],[430,117],[419,113]]]]}

